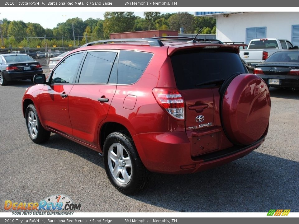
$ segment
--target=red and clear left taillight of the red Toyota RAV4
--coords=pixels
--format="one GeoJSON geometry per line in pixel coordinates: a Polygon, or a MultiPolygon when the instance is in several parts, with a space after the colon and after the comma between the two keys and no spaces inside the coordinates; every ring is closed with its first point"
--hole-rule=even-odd
{"type": "Polygon", "coordinates": [[[185,102],[178,89],[154,88],[152,92],[158,104],[168,114],[178,120],[185,119],[185,102]]]}

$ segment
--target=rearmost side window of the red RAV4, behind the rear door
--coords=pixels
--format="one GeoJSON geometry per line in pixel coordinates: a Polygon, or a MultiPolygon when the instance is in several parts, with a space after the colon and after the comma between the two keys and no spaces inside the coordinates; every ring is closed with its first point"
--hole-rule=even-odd
{"type": "Polygon", "coordinates": [[[143,74],[152,53],[121,50],[118,61],[117,84],[133,84],[143,74]]]}

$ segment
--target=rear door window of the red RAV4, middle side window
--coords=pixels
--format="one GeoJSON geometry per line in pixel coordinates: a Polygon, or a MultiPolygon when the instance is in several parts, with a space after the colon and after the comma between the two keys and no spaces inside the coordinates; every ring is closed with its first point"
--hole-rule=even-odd
{"type": "Polygon", "coordinates": [[[79,83],[107,83],[116,52],[88,52],[83,63],[79,83]]]}

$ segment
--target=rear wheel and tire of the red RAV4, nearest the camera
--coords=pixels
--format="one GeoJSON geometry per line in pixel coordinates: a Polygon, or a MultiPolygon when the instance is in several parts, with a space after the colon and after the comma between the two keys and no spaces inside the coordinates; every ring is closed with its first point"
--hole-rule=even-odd
{"type": "Polygon", "coordinates": [[[132,137],[126,132],[108,135],[103,159],[110,182],[123,194],[140,191],[149,180],[149,171],[140,160],[132,137]]]}

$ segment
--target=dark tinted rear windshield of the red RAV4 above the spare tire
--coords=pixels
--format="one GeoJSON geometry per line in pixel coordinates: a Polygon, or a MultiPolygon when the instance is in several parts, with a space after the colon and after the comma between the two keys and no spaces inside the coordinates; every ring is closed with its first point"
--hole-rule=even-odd
{"type": "Polygon", "coordinates": [[[215,86],[196,85],[217,79],[225,80],[236,72],[246,72],[239,55],[227,51],[183,51],[174,54],[171,62],[179,90],[215,86]]]}

